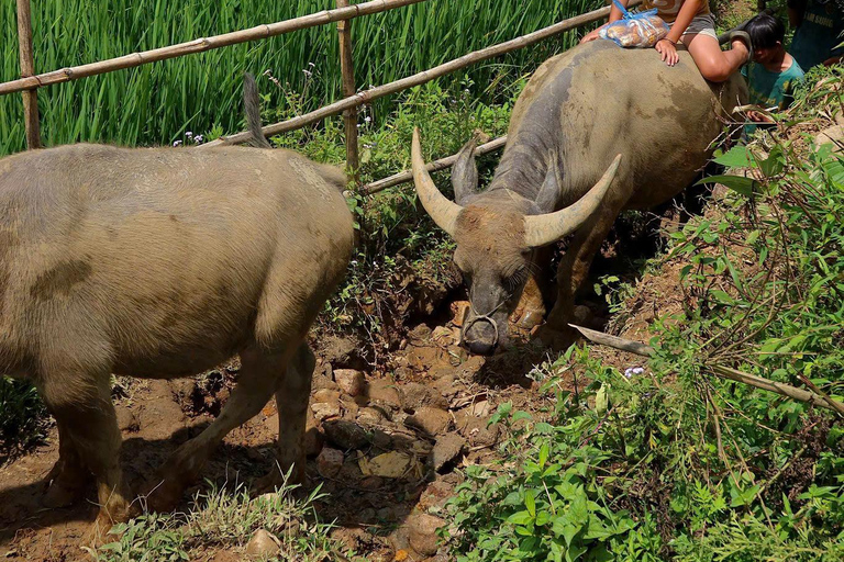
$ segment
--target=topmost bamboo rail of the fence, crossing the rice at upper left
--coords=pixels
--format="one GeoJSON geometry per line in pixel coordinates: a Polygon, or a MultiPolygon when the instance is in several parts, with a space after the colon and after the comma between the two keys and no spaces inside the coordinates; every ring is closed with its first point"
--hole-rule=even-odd
{"type": "Polygon", "coordinates": [[[91,63],[88,65],[63,68],[60,70],[54,70],[43,75],[21,78],[20,80],[12,80],[10,82],[0,83],[0,95],[22,90],[30,90],[33,88],[41,88],[52,83],[78,80],[89,76],[113,72],[124,68],[133,68],[158,60],[181,57],[193,53],[202,53],[220,47],[226,47],[229,45],[246,43],[248,41],[274,37],[284,33],[290,33],[291,31],[304,30],[308,27],[324,25],[326,23],[333,23],[341,20],[352,20],[362,15],[369,15],[373,13],[395,10],[396,8],[424,1],[426,0],[371,0],[362,4],[349,5],[336,10],[323,10],[321,12],[302,15],[300,18],[293,18],[292,20],[257,25],[248,30],[224,33],[222,35],[214,35],[211,37],[201,37],[198,40],[189,41],[187,43],[179,43],[178,45],[170,45],[152,50],[133,53],[131,55],[110,58],[108,60],[100,60],[98,63],[91,63]]]}

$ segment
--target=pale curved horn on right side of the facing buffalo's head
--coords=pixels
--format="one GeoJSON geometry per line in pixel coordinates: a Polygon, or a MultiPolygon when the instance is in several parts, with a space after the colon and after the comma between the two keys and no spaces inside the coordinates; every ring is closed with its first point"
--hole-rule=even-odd
{"type": "Polygon", "coordinates": [[[621,164],[621,155],[615,157],[603,177],[577,203],[555,213],[525,216],[524,237],[528,246],[530,248],[547,246],[579,228],[603,201],[607,190],[615,179],[615,172],[619,171],[619,164],[621,164]]]}

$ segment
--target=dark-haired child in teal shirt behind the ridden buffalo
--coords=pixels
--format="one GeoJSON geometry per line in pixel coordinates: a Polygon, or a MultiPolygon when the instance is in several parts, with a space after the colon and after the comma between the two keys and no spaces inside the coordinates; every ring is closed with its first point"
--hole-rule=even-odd
{"type": "MultiPolygon", "coordinates": [[[[785,110],[792,101],[795,85],[803,78],[803,69],[795,57],[786,52],[786,25],[779,18],[760,13],[744,27],[753,43],[753,63],[744,67],[742,74],[747,80],[749,102],[768,110],[785,110]]],[[[747,116],[757,123],[770,123],[770,117],[757,111],[749,111],[747,116]]],[[[745,127],[747,134],[756,127],[745,127]]]]}

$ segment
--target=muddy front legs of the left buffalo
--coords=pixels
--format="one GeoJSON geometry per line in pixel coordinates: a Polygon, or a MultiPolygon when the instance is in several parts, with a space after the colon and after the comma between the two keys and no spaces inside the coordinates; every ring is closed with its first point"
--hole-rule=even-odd
{"type": "Polygon", "coordinates": [[[59,439],[70,441],[65,447],[59,443],[59,454],[64,452],[68,461],[58,475],[59,485],[70,492],[76,487],[68,482],[82,472],[75,465],[76,454],[97,479],[100,512],[86,542],[99,542],[112,525],[130,517],[129,492],[120,469],[121,435],[111,403],[109,373],[48,373],[41,379],[44,402],[62,429],[59,439]]]}

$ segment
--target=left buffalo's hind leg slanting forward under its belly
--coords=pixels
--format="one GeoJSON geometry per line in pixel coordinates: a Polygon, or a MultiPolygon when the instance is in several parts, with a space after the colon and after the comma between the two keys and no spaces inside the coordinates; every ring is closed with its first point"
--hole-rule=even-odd
{"type": "Polygon", "coordinates": [[[179,447],[144,487],[149,509],[170,512],[179,504],[185,488],[197,480],[223,438],[269,402],[293,349],[285,346],[268,351],[253,344],[241,352],[237,385],[223,411],[201,434],[179,447]]]}

